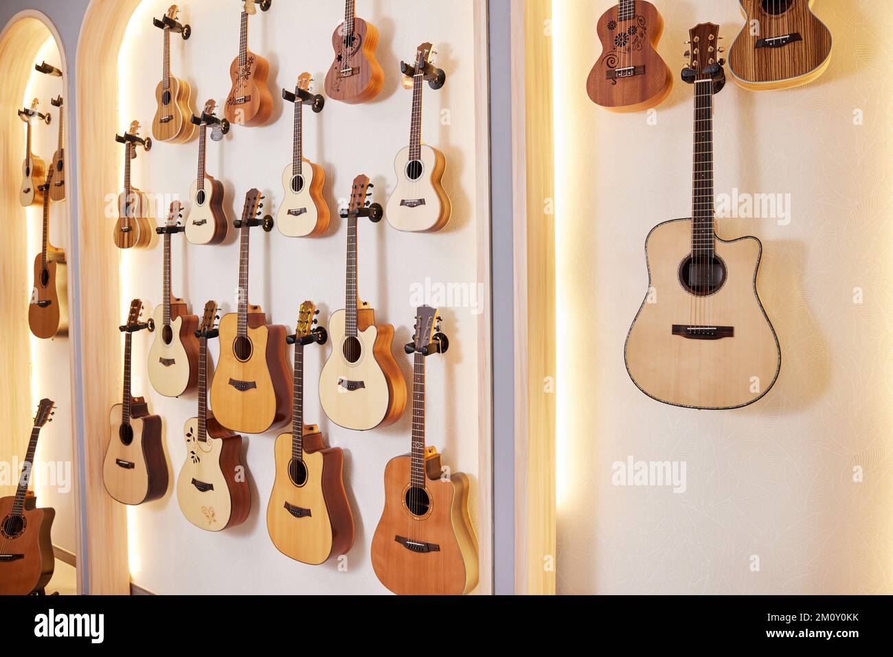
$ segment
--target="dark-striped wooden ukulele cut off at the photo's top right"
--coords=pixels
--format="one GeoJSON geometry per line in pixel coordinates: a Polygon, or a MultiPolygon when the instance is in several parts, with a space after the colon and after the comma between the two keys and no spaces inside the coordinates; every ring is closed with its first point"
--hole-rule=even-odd
{"type": "Polygon", "coordinates": [[[741,87],[797,87],[828,69],[831,33],[812,12],[813,0],[739,2],[747,20],[729,50],[729,70],[741,87]]]}

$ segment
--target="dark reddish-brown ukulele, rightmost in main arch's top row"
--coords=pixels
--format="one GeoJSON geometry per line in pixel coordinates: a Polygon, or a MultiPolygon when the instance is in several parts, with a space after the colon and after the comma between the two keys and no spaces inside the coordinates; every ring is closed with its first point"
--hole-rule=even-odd
{"type": "Polygon", "coordinates": [[[371,101],[385,84],[385,72],[375,58],[379,30],[357,18],[355,0],[346,0],[344,22],[332,35],[335,61],[326,74],[326,94],[347,104],[371,101]]]}

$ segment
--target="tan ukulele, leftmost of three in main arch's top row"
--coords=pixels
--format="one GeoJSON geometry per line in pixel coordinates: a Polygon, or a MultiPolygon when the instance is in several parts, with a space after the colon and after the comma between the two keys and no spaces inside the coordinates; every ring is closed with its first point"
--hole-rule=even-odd
{"type": "MultiPolygon", "coordinates": [[[[192,118],[192,87],[185,79],[171,75],[171,30],[188,39],[191,29],[184,29],[177,21],[179,7],[171,4],[162,20],[153,19],[163,32],[162,80],[155,87],[157,109],[152,120],[152,135],[158,141],[182,144],[196,136],[192,118]]],[[[187,26],[188,27],[188,26],[187,26]]]]}

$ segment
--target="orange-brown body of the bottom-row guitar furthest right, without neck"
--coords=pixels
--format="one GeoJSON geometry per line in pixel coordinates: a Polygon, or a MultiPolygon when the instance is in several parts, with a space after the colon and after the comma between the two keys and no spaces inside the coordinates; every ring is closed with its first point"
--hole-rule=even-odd
{"type": "Polygon", "coordinates": [[[462,473],[440,478],[440,459],[426,462],[430,510],[413,515],[405,505],[412,458],[397,456],[385,468],[385,508],[372,537],[372,569],[397,595],[463,595],[478,585],[478,545],[468,512],[469,482],[462,473]],[[396,539],[437,546],[416,552],[396,539]]]}

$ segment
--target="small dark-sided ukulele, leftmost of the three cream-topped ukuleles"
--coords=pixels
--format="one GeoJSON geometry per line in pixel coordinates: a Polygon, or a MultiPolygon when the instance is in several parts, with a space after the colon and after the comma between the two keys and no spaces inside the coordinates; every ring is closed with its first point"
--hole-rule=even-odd
{"type": "Polygon", "coordinates": [[[214,120],[216,106],[213,100],[204,104],[201,125],[198,127],[198,177],[189,187],[192,208],[186,222],[186,238],[198,245],[220,244],[226,238],[229,224],[224,206],[226,193],[223,183],[204,170],[208,121],[214,120]]]}

